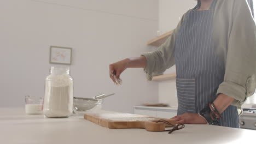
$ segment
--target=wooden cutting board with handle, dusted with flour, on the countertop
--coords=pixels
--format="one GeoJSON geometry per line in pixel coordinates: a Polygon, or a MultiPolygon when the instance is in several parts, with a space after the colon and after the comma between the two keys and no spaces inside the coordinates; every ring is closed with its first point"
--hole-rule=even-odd
{"type": "Polygon", "coordinates": [[[159,119],[164,119],[175,125],[173,119],[133,115],[130,113],[88,113],[84,115],[84,118],[109,129],[143,128],[148,131],[164,131],[166,127],[172,127],[172,125],[162,122],[156,123],[159,119]]]}

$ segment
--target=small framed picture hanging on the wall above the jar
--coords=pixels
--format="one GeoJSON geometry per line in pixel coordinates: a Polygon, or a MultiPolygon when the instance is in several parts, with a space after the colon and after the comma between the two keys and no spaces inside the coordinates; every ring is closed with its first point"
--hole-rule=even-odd
{"type": "Polygon", "coordinates": [[[50,46],[50,63],[71,65],[72,48],[50,46]]]}

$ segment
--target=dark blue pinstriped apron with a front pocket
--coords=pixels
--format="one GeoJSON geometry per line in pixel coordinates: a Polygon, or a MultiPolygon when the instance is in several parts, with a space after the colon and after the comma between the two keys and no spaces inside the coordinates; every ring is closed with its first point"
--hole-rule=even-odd
{"type": "MultiPolygon", "coordinates": [[[[199,113],[217,98],[224,80],[224,62],[220,61],[212,40],[213,16],[217,0],[209,10],[191,10],[176,35],[175,61],[178,113],[199,113]]],[[[219,119],[225,127],[240,128],[237,107],[230,105],[219,119]]]]}

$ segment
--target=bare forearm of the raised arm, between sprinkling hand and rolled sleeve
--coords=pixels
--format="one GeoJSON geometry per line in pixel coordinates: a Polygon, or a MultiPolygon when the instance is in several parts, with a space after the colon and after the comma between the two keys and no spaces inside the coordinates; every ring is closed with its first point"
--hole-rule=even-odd
{"type": "Polygon", "coordinates": [[[146,68],[147,59],[144,56],[126,58],[127,68],[146,68]]]}

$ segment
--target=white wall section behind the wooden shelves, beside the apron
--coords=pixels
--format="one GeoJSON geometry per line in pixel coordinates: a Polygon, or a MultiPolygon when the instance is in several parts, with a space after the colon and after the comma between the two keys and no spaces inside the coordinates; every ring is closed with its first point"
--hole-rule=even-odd
{"type": "MultiPolygon", "coordinates": [[[[162,33],[176,28],[179,18],[189,9],[194,8],[194,0],[159,0],[159,31],[162,33]]],[[[175,67],[167,69],[165,74],[176,72],[175,67]]],[[[175,80],[159,82],[159,102],[170,106],[178,106],[175,80]]]]}

